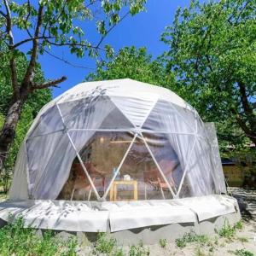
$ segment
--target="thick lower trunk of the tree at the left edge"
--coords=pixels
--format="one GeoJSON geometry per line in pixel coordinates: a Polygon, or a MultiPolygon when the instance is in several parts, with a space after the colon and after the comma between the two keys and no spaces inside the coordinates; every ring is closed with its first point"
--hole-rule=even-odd
{"type": "Polygon", "coordinates": [[[2,131],[0,132],[0,174],[4,160],[6,160],[8,155],[10,145],[15,139],[15,130],[20,119],[23,103],[24,100],[21,98],[14,100],[13,103],[11,103],[2,131]]]}

